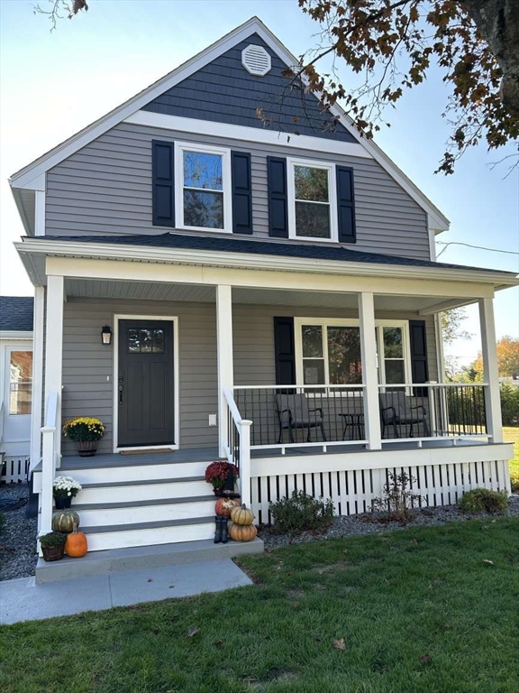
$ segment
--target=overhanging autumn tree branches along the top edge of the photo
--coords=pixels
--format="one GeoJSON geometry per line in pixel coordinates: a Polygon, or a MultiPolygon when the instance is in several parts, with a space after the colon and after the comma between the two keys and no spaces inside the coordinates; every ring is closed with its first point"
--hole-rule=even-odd
{"type": "MultiPolygon", "coordinates": [[[[371,138],[387,106],[439,66],[451,90],[442,115],[452,134],[438,171],[452,173],[463,152],[481,141],[496,149],[519,137],[518,0],[297,1],[319,23],[320,43],[287,70],[288,91],[302,99],[314,93],[323,112],[340,103],[371,138]],[[325,56],[332,56],[332,72],[321,75],[315,65],[325,56]],[[341,65],[363,75],[359,88],[343,86],[341,65]]],[[[47,7],[35,12],[48,14],[52,27],[88,9],[86,0],[49,0],[47,7]]],[[[263,108],[258,115],[275,125],[263,108]]]]}

